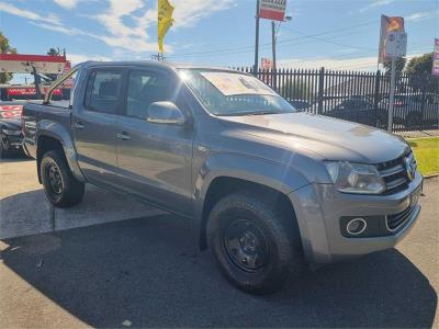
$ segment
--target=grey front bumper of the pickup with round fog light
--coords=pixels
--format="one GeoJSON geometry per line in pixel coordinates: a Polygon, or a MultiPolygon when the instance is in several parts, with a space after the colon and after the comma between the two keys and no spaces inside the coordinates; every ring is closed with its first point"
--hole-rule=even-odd
{"type": "Polygon", "coordinates": [[[389,195],[338,192],[331,184],[309,184],[289,194],[294,205],[305,258],[331,263],[393,248],[413,228],[420,213],[423,177],[389,195]],[[351,235],[347,224],[361,218],[365,228],[351,235]]]}

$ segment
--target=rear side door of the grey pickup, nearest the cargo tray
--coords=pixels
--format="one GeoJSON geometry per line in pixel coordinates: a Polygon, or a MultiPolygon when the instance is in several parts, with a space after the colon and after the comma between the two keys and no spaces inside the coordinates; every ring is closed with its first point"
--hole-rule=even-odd
{"type": "Polygon", "coordinates": [[[115,127],[124,70],[90,69],[86,79],[83,102],[76,102],[72,114],[78,162],[87,180],[114,185],[117,183],[115,127]]]}

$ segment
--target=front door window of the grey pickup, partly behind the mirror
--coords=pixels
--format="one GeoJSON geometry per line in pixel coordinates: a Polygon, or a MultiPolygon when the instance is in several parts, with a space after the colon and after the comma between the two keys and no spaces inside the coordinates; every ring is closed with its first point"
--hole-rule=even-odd
{"type": "Polygon", "coordinates": [[[169,81],[165,75],[132,71],[126,92],[126,115],[145,120],[154,102],[169,101],[169,81]]]}

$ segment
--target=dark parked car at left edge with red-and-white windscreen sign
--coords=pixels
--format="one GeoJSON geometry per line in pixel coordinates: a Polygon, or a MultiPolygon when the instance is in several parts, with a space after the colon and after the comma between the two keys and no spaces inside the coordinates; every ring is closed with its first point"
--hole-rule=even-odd
{"type": "Polygon", "coordinates": [[[0,158],[22,150],[21,114],[25,102],[0,102],[0,158]]]}

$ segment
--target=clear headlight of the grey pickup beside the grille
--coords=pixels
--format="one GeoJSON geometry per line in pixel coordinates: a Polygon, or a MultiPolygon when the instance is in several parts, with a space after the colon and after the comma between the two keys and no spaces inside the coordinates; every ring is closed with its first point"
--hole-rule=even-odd
{"type": "Polygon", "coordinates": [[[379,194],[385,190],[385,183],[373,166],[347,161],[326,161],[325,166],[340,192],[379,194]]]}

